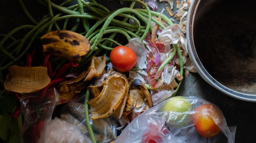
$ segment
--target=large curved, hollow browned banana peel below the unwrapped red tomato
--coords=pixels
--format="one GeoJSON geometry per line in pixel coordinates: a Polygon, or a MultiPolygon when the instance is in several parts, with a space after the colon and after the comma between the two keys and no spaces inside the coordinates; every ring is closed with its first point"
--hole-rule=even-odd
{"type": "Polygon", "coordinates": [[[92,119],[112,115],[123,102],[129,89],[126,76],[113,70],[110,70],[102,86],[103,89],[97,98],[87,102],[91,107],[92,119]]]}

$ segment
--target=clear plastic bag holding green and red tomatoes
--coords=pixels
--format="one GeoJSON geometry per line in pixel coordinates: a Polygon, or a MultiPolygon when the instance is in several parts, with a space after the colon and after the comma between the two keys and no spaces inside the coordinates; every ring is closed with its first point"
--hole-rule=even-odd
{"type": "Polygon", "coordinates": [[[228,143],[234,143],[236,126],[228,127],[225,116],[215,104],[194,96],[176,96],[133,119],[115,143],[216,143],[221,134],[227,137],[228,143]],[[214,110],[209,109],[209,112],[218,114],[209,114],[220,129],[214,137],[202,137],[195,128],[198,107],[202,105],[211,106],[214,110]]]}

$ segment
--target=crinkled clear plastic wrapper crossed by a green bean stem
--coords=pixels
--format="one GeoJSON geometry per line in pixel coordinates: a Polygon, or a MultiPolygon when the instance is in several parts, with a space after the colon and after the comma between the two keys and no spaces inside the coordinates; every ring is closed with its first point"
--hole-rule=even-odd
{"type": "MultiPolygon", "coordinates": [[[[89,116],[90,116],[90,110],[89,116]]],[[[85,119],[84,101],[73,101],[67,103],[61,110],[61,120],[66,121],[79,128],[79,130],[87,137],[90,134],[85,119]]],[[[110,116],[107,118],[90,119],[90,126],[94,132],[97,143],[109,143],[117,137],[117,120],[110,116]]]]}

